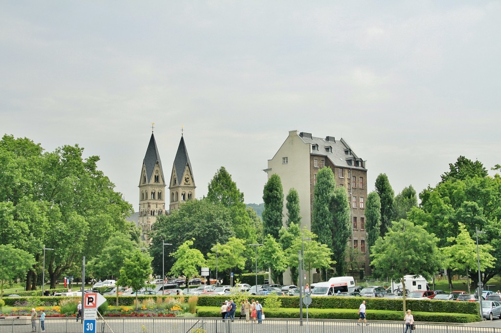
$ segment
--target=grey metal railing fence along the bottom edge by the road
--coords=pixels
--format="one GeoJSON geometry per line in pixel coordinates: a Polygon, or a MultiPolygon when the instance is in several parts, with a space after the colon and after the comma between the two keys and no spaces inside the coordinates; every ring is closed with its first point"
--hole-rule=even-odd
{"type": "MultiPolygon", "coordinates": [[[[37,333],[42,332],[40,320],[37,333]]],[[[46,333],[82,333],[81,321],[75,318],[46,318],[46,333]]],[[[108,317],[97,320],[96,333],[403,333],[403,323],[370,321],[357,325],[356,321],[271,319],[262,324],[252,320],[222,320],[198,317],[108,317]],[[105,324],[106,321],[106,324],[105,324]]],[[[0,333],[28,333],[31,319],[0,319],[0,333]]],[[[411,333],[501,333],[501,328],[468,325],[416,323],[411,333]]]]}

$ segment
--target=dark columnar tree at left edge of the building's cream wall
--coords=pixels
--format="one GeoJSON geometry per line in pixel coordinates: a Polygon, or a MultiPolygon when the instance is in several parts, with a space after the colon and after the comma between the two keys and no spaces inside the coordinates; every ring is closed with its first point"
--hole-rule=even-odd
{"type": "Polygon", "coordinates": [[[279,238],[279,230],[284,217],[284,190],[280,176],[273,174],[263,190],[265,210],[263,211],[263,233],[279,238]]]}

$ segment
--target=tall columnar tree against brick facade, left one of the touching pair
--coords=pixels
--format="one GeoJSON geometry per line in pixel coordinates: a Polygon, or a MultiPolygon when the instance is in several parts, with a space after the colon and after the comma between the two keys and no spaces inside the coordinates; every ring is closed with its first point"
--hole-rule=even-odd
{"type": "Polygon", "coordinates": [[[318,240],[322,244],[332,244],[333,214],[330,205],[335,186],[336,182],[331,168],[320,169],[313,193],[311,230],[318,235],[318,240]]]}

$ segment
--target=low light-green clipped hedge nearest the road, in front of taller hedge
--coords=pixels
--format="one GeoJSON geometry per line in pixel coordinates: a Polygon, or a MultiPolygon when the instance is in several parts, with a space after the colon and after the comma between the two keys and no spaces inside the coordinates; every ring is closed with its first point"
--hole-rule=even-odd
{"type": "MultiPolygon", "coordinates": [[[[215,306],[200,306],[197,307],[199,317],[219,317],[219,307],[215,306]]],[[[308,315],[312,319],[351,319],[359,318],[357,309],[318,309],[309,308],[308,315]]],[[[299,318],[299,309],[282,308],[277,311],[266,310],[267,318],[299,318]]],[[[428,322],[475,322],[480,321],[479,315],[464,314],[464,313],[430,313],[430,312],[414,312],[415,321],[428,322]]],[[[303,315],[306,315],[306,309],[303,309],[303,315]]],[[[369,320],[394,320],[402,321],[404,317],[403,311],[389,310],[370,310],[367,311],[369,320]]]]}

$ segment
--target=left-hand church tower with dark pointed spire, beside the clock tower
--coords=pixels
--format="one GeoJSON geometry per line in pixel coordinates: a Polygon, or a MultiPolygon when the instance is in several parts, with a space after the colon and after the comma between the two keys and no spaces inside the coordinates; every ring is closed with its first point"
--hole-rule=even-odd
{"type": "Polygon", "coordinates": [[[165,214],[165,177],[162,162],[151,131],[150,142],[144,155],[139,180],[139,217],[138,227],[141,229],[141,239],[149,243],[149,232],[155,224],[158,215],[165,214]]]}

